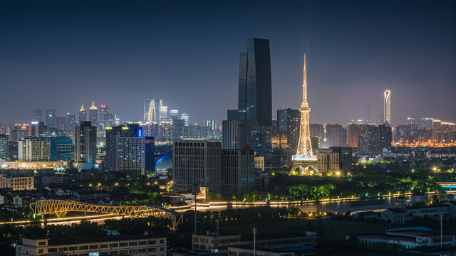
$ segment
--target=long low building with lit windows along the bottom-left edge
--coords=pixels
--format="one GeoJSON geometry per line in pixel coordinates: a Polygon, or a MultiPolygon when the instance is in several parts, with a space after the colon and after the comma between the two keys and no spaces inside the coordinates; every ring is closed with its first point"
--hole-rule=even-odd
{"type": "Polygon", "coordinates": [[[164,235],[107,235],[71,239],[23,237],[16,246],[16,256],[166,256],[166,239],[164,235]]]}

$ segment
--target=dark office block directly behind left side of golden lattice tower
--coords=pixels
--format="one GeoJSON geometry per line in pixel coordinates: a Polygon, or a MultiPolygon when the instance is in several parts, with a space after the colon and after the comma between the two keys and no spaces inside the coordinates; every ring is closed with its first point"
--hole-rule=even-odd
{"type": "Polygon", "coordinates": [[[277,126],[286,131],[288,148],[296,151],[299,140],[301,112],[299,110],[277,110],[277,126]]]}

